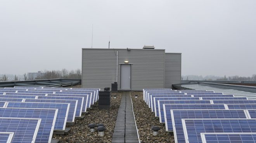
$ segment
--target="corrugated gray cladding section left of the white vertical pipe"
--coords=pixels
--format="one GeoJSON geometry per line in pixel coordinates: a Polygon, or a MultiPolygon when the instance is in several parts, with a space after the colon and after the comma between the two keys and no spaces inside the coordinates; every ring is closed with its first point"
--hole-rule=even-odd
{"type": "Polygon", "coordinates": [[[82,50],[82,87],[110,87],[116,81],[116,50],[82,50]]]}

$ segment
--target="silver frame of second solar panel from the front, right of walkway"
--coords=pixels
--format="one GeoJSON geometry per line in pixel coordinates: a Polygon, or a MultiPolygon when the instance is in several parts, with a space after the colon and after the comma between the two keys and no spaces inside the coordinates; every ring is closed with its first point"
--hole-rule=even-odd
{"type": "MultiPolygon", "coordinates": [[[[256,119],[234,119],[234,118],[233,119],[182,119],[182,126],[183,126],[183,130],[184,130],[184,134],[185,134],[186,143],[189,143],[189,141],[188,141],[189,138],[188,138],[187,129],[186,129],[186,123],[185,123],[186,120],[227,120],[227,121],[229,121],[229,120],[247,120],[247,121],[252,120],[252,121],[256,122],[256,119]]],[[[218,132],[218,133],[221,133],[221,132],[218,132]]],[[[241,132],[241,133],[243,133],[243,132],[241,132]]],[[[244,133],[246,133],[246,132],[244,132],[244,133]]],[[[255,133],[255,132],[247,132],[247,133],[255,133]]],[[[200,138],[201,138],[201,136],[200,136],[200,138]]],[[[202,141],[202,139],[200,141],[202,141]]]]}

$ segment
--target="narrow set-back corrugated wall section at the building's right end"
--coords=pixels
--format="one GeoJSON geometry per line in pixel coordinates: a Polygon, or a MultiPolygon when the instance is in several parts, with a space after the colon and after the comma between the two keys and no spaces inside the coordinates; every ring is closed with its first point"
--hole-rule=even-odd
{"type": "Polygon", "coordinates": [[[165,53],[164,88],[181,83],[181,53],[165,53]]]}

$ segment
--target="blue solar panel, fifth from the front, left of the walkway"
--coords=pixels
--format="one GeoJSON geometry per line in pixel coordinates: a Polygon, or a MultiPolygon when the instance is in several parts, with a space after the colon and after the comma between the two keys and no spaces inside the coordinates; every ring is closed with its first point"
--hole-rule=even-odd
{"type": "Polygon", "coordinates": [[[59,99],[25,99],[24,102],[43,102],[43,103],[69,103],[67,122],[74,122],[76,115],[77,100],[59,100],[59,99]]]}

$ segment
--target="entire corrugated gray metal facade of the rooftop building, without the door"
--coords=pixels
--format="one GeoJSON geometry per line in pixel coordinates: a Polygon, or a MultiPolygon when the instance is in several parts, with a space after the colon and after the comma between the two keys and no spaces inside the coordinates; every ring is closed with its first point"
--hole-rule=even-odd
{"type": "Polygon", "coordinates": [[[125,64],[126,60],[131,64],[131,90],[166,88],[173,83],[180,83],[181,54],[165,53],[164,49],[127,51],[127,49],[84,48],[82,50],[82,87],[103,89],[111,87],[111,83],[117,81],[120,89],[120,64],[125,64]],[[164,74],[164,67],[166,74],[164,74]]]}

